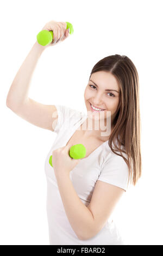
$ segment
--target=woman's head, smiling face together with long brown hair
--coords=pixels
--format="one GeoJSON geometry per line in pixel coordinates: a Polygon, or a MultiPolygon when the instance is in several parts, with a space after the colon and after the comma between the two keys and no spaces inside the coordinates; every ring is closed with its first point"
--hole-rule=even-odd
{"type": "Polygon", "coordinates": [[[114,129],[109,136],[109,147],[126,161],[133,185],[136,185],[142,166],[139,76],[135,65],[127,56],[119,54],[99,60],[91,71],[84,96],[87,110],[91,103],[96,108],[111,111],[114,129]]]}

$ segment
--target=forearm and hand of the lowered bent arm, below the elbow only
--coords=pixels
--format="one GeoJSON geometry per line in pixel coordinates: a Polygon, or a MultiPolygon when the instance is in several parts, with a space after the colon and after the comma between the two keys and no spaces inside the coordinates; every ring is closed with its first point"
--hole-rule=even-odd
{"type": "Polygon", "coordinates": [[[59,148],[52,152],[52,165],[57,179],[58,188],[65,212],[72,229],[80,240],[91,236],[94,232],[92,212],[83,204],[74,190],[70,179],[70,171],[80,160],[69,156],[70,146],[59,148]]]}

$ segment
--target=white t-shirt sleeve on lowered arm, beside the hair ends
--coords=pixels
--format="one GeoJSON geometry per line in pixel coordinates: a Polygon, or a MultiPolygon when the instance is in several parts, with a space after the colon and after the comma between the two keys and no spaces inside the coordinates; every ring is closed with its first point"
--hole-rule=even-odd
{"type": "Polygon", "coordinates": [[[127,191],[128,166],[121,156],[112,156],[102,167],[98,180],[107,182],[127,191]]]}

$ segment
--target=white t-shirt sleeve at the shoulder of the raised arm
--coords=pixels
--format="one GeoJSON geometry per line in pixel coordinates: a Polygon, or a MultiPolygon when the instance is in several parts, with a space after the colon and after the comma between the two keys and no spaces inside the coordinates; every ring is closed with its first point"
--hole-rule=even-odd
{"type": "Polygon", "coordinates": [[[57,113],[53,113],[53,117],[58,115],[58,118],[53,121],[52,127],[53,131],[58,134],[60,130],[66,130],[72,127],[75,124],[74,122],[76,120],[78,121],[81,112],[65,105],[57,104],[55,107],[57,108],[57,113]]]}

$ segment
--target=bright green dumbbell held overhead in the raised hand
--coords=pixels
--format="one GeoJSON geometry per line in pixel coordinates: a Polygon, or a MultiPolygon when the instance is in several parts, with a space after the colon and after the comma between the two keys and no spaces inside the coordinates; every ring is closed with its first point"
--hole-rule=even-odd
{"type": "MultiPolygon", "coordinates": [[[[66,21],[66,23],[67,23],[66,29],[70,28],[70,34],[73,34],[72,24],[67,21],[66,21]]],[[[40,45],[46,46],[48,44],[51,44],[52,40],[53,40],[53,31],[47,31],[45,29],[45,30],[40,31],[39,34],[37,34],[37,42],[40,45]]]]}

